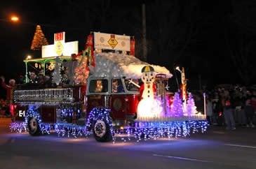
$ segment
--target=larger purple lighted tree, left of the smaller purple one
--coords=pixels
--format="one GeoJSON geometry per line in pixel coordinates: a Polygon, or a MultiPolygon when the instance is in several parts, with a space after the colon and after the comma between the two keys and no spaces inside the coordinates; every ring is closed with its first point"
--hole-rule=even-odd
{"type": "Polygon", "coordinates": [[[175,117],[181,117],[183,115],[182,99],[180,98],[180,94],[178,92],[175,92],[170,114],[175,117]]]}

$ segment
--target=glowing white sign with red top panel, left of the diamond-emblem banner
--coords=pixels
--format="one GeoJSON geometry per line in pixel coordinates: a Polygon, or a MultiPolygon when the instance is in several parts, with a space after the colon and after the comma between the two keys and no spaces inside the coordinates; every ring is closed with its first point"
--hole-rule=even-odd
{"type": "Polygon", "coordinates": [[[79,42],[72,41],[65,43],[65,31],[54,34],[54,44],[42,46],[42,57],[71,56],[78,54],[79,42]]]}

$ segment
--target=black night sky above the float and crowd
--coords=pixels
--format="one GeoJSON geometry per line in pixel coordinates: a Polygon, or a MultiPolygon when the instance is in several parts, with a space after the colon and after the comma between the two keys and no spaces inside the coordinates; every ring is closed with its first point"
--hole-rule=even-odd
{"type": "Polygon", "coordinates": [[[184,66],[194,89],[198,88],[198,76],[209,87],[255,84],[251,66],[255,66],[256,48],[253,1],[1,1],[0,18],[14,13],[21,21],[0,22],[0,75],[16,78],[25,72],[22,60],[27,54],[41,57],[40,52],[30,50],[36,24],[41,24],[50,44],[54,33],[66,31],[66,41],[79,41],[80,51],[90,31],[135,36],[136,55],[142,56],[143,2],[149,63],[166,66],[171,73],[175,65],[184,66]],[[231,54],[242,59],[241,74],[236,71],[241,61],[232,60],[231,54]],[[248,78],[241,78],[243,75],[248,78]]]}

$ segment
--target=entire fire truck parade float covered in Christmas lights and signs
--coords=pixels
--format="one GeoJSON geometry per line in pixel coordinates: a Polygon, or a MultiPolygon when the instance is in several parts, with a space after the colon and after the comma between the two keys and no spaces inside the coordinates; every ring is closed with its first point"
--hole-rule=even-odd
{"type": "Polygon", "coordinates": [[[147,140],[206,131],[206,115],[196,111],[193,96],[169,92],[173,75],[137,59],[133,37],[93,32],[82,52],[77,41],[65,43],[65,32],[54,37],[54,45],[42,47],[41,58],[25,60],[27,83],[14,91],[11,131],[93,134],[100,142],[120,135],[147,140]],[[41,68],[43,82],[29,72],[29,64],[41,68]]]}

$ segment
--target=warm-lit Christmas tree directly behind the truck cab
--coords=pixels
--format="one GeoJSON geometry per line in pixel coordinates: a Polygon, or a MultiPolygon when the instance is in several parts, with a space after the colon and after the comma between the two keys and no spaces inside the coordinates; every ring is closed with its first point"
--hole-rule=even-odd
{"type": "Polygon", "coordinates": [[[83,51],[83,55],[79,61],[79,66],[74,70],[74,82],[76,84],[86,84],[86,80],[89,75],[86,51],[83,51]]]}

